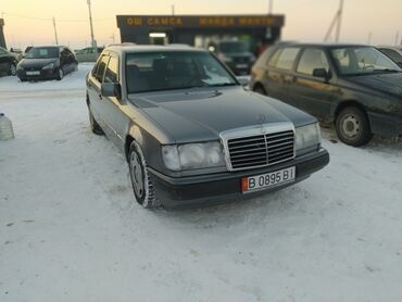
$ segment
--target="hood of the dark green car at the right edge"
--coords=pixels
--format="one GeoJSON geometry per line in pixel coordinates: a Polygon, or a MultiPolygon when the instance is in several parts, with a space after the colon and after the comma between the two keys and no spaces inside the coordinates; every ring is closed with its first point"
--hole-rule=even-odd
{"type": "Polygon", "coordinates": [[[353,76],[350,81],[402,99],[402,73],[353,76]]]}

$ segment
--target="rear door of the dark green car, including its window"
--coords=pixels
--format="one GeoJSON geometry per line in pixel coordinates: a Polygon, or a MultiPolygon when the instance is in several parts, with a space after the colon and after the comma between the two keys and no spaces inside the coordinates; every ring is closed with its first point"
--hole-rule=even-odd
{"type": "Polygon", "coordinates": [[[263,85],[269,97],[291,103],[288,89],[293,78],[292,70],[299,51],[299,47],[279,48],[267,61],[263,85]]]}

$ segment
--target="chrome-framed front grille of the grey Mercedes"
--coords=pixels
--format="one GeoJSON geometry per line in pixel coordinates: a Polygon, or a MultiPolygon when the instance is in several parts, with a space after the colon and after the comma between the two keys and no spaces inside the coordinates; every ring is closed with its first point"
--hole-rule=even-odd
{"type": "Polygon", "coordinates": [[[277,164],[294,158],[294,133],[285,130],[227,140],[231,169],[277,164]]]}

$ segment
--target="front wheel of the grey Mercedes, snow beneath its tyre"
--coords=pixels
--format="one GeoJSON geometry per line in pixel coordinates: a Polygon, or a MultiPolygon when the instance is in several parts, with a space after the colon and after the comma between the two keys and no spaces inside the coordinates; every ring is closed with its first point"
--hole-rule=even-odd
{"type": "Polygon", "coordinates": [[[146,209],[156,207],[154,186],[148,175],[146,158],[136,141],[129,147],[128,169],[137,202],[146,209]]]}

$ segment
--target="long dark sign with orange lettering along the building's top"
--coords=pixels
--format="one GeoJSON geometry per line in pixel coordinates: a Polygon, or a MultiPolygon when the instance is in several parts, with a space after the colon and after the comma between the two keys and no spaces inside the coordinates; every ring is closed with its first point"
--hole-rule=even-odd
{"type": "Polygon", "coordinates": [[[118,27],[269,27],[282,25],[282,15],[117,16],[118,27]]]}

